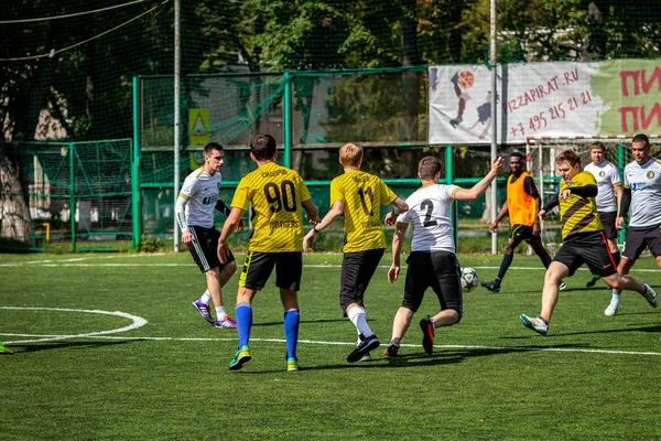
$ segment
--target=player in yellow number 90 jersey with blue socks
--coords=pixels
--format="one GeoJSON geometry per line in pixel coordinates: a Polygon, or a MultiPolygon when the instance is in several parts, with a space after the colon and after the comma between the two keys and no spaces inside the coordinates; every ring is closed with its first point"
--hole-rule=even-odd
{"type": "Polygon", "coordinates": [[[280,300],[284,308],[286,369],[297,370],[296,345],[301,316],[297,291],[303,269],[301,207],[305,208],[306,218],[312,223],[319,220],[318,211],[299,173],[275,163],[278,149],[273,137],[256,136],[250,141],[250,158],[258,168],[239,182],[231,201],[231,212],[218,239],[218,257],[225,263],[230,256],[227,239],[252,203],[252,235],[239,278],[236,303],[239,346],[229,362],[229,369],[238,370],[251,358],[252,299],[275,268],[275,286],[280,288],[280,300]]]}

